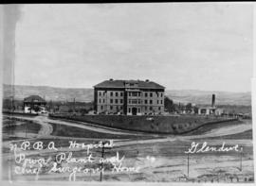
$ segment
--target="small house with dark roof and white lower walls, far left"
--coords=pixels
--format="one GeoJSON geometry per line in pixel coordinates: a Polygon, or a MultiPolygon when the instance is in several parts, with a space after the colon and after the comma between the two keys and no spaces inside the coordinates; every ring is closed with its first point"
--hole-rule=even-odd
{"type": "Polygon", "coordinates": [[[46,100],[39,95],[30,95],[23,103],[25,113],[46,113],[46,100]]]}

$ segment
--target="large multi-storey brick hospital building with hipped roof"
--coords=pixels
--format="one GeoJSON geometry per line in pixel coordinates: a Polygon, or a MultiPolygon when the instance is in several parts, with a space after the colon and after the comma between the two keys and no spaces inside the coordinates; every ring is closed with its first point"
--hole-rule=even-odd
{"type": "Polygon", "coordinates": [[[160,114],[164,89],[149,80],[105,80],[94,86],[94,107],[97,113],[160,114]]]}

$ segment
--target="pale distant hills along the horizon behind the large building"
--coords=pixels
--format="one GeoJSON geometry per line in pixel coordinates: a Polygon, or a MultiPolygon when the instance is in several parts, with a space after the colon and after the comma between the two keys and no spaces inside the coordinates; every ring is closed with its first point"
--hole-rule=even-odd
{"type": "MultiPolygon", "coordinates": [[[[4,98],[14,95],[15,99],[23,100],[25,97],[36,94],[46,101],[93,101],[93,89],[69,89],[48,86],[4,85],[4,98]]],[[[211,94],[216,95],[217,105],[245,105],[251,104],[250,93],[208,92],[198,90],[167,90],[166,95],[178,103],[195,103],[210,105],[211,94]]]]}

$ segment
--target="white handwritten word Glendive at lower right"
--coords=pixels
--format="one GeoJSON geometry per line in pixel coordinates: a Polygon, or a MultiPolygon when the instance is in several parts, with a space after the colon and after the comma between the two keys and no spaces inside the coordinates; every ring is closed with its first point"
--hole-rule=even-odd
{"type": "Polygon", "coordinates": [[[233,146],[225,146],[225,142],[223,142],[221,147],[215,147],[215,146],[209,146],[207,142],[204,142],[203,144],[195,144],[192,142],[192,146],[189,148],[188,151],[185,151],[185,153],[204,153],[204,152],[229,152],[229,151],[239,151],[238,150],[238,144],[235,144],[233,146]]]}

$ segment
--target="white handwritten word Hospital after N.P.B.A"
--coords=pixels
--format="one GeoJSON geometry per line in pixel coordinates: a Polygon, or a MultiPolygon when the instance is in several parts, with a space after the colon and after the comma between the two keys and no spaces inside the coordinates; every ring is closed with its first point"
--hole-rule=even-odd
{"type": "Polygon", "coordinates": [[[108,143],[99,142],[98,144],[85,144],[77,143],[76,141],[69,141],[69,148],[85,148],[87,149],[87,154],[90,153],[90,149],[92,148],[111,148],[113,146],[113,140],[110,140],[108,143]]]}

